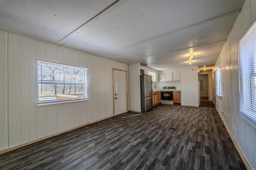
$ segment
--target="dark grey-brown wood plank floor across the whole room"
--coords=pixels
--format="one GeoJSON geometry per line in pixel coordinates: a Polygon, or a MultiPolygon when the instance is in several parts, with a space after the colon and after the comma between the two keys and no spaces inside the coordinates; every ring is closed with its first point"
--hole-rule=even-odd
{"type": "Polygon", "coordinates": [[[216,109],[158,105],[120,119],[136,114],[1,154],[0,169],[246,169],[216,109]]]}

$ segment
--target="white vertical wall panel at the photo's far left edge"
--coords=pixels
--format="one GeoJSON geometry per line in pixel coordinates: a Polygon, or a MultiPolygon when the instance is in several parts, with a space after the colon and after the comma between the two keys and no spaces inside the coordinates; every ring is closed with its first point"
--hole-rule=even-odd
{"type": "Polygon", "coordinates": [[[0,30],[0,150],[8,148],[8,32],[0,30]]]}

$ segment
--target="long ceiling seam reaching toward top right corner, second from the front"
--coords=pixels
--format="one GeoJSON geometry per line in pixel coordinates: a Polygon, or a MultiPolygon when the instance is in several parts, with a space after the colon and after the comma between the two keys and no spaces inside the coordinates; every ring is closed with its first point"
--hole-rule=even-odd
{"type": "MultiPolygon", "coordinates": [[[[102,53],[102,54],[99,54],[99,55],[97,55],[97,56],[101,57],[102,55],[105,55],[105,54],[110,53],[110,52],[113,52],[113,51],[118,51],[118,50],[120,50],[120,49],[125,49],[125,48],[128,48],[128,47],[132,47],[132,46],[134,46],[134,45],[138,45],[138,44],[140,44],[140,43],[144,43],[144,42],[156,40],[156,39],[158,39],[158,38],[162,38],[162,37],[165,37],[165,36],[169,36],[169,35],[171,35],[171,34],[174,34],[174,33],[176,33],[176,32],[180,32],[180,31],[183,31],[183,30],[186,30],[186,29],[189,29],[189,28],[194,28],[194,27],[197,27],[197,26],[201,26],[201,25],[210,23],[210,22],[212,22],[212,21],[222,19],[222,18],[224,18],[224,17],[226,17],[226,16],[231,16],[232,14],[234,14],[234,13],[236,13],[236,12],[239,12],[239,11],[240,11],[240,10],[236,10],[236,11],[230,12],[230,13],[228,13],[228,14],[224,14],[224,15],[221,15],[221,16],[217,16],[217,17],[215,17],[215,18],[211,18],[211,19],[209,19],[209,20],[205,20],[205,21],[202,21],[202,22],[198,22],[197,24],[193,24],[193,25],[190,25],[190,26],[187,26],[187,27],[184,27],[184,28],[180,28],[180,29],[178,29],[178,30],[174,30],[174,31],[171,31],[171,32],[167,32],[167,33],[164,33],[164,34],[161,34],[161,35],[152,37],[152,38],[148,38],[148,39],[142,40],[142,41],[140,41],[140,42],[131,43],[131,44],[126,45],[126,46],[124,46],[124,47],[121,47],[121,48],[118,48],[118,49],[114,49],[114,50],[112,50],[112,51],[108,51],[108,52],[106,52],[106,53],[102,53]]],[[[194,34],[194,33],[193,33],[193,34],[194,34]]]]}

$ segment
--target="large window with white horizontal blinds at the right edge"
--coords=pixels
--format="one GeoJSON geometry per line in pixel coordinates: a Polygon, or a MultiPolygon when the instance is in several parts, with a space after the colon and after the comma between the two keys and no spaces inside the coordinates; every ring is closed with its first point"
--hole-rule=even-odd
{"type": "Polygon", "coordinates": [[[256,127],[256,22],[238,41],[239,113],[256,127]]]}

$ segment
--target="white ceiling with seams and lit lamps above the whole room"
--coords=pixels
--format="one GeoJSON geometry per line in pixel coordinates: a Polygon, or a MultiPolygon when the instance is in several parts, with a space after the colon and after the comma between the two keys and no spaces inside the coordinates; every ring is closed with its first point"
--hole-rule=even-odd
{"type": "MultiPolygon", "coordinates": [[[[1,0],[0,29],[121,63],[212,68],[244,0],[1,0]]],[[[207,70],[206,70],[207,71],[207,70]]]]}

